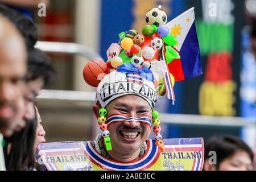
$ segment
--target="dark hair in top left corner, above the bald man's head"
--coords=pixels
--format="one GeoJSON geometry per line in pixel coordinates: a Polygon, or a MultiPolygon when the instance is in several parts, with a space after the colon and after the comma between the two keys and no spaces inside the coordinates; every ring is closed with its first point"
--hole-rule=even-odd
{"type": "Polygon", "coordinates": [[[35,23],[26,16],[0,3],[0,14],[6,16],[22,34],[27,50],[32,49],[38,40],[38,29],[35,23]]]}

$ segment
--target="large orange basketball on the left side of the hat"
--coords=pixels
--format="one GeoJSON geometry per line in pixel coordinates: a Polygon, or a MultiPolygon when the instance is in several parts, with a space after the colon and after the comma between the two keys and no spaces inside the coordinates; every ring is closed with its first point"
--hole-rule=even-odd
{"type": "Polygon", "coordinates": [[[102,78],[102,74],[108,74],[109,68],[106,63],[102,60],[92,60],[89,61],[82,71],[82,76],[84,77],[84,81],[90,85],[97,87],[102,78]]]}

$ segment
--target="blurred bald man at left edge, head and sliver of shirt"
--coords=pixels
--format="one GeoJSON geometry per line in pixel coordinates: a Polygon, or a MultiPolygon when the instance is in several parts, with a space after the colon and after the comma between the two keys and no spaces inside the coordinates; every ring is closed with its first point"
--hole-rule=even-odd
{"type": "MultiPolygon", "coordinates": [[[[26,46],[22,36],[7,19],[0,16],[0,171],[5,170],[2,134],[9,137],[17,127],[24,127],[23,119],[16,119],[24,92],[26,46]],[[15,53],[13,49],[15,48],[15,53]],[[2,133],[2,134],[1,134],[2,133]]],[[[23,106],[22,105],[22,106],[23,106]]],[[[21,106],[21,108],[22,108],[21,106]]],[[[22,116],[22,113],[20,114],[22,116]]],[[[20,117],[19,116],[19,117],[20,117]]]]}

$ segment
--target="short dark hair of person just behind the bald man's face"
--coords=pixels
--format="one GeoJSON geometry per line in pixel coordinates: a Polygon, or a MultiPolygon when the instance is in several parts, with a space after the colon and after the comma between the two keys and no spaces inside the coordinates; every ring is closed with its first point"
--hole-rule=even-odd
{"type": "Polygon", "coordinates": [[[51,66],[49,57],[38,48],[28,51],[28,73],[27,81],[42,77],[44,85],[48,85],[53,80],[55,71],[51,66]]]}

